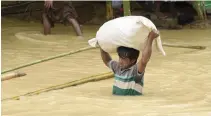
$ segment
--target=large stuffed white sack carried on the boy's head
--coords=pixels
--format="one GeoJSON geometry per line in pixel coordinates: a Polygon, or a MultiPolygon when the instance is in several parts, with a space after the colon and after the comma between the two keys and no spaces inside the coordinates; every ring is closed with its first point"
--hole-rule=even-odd
{"type": "MultiPolygon", "coordinates": [[[[104,23],[97,31],[96,37],[88,41],[92,47],[99,46],[106,52],[116,52],[117,47],[125,46],[141,51],[147,36],[156,26],[143,16],[125,16],[104,23]]],[[[160,36],[153,46],[165,55],[160,36]]]]}

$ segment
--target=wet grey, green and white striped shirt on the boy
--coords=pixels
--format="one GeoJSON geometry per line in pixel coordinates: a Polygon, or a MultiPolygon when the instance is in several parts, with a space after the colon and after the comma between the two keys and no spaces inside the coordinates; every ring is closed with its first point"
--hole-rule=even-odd
{"type": "Polygon", "coordinates": [[[108,66],[114,72],[114,95],[142,95],[144,72],[138,72],[137,64],[121,70],[118,62],[111,60],[108,66]]]}

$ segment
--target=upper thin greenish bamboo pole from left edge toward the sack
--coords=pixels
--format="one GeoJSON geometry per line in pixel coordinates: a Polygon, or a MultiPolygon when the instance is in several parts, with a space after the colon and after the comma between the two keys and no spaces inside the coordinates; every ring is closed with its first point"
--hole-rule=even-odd
{"type": "Polygon", "coordinates": [[[41,59],[41,60],[36,60],[34,62],[30,62],[30,63],[24,64],[24,65],[21,65],[21,66],[17,66],[17,67],[12,68],[12,69],[4,70],[3,72],[1,72],[1,74],[11,72],[11,71],[14,71],[14,70],[17,70],[17,69],[21,69],[21,68],[24,68],[24,67],[32,66],[32,65],[35,65],[35,64],[38,64],[38,63],[46,62],[46,61],[49,61],[49,60],[53,60],[53,59],[56,59],[56,58],[61,58],[61,57],[67,56],[67,55],[75,54],[75,53],[78,53],[78,52],[90,50],[90,49],[94,49],[94,47],[84,47],[84,48],[81,48],[79,50],[70,51],[68,53],[63,53],[63,54],[59,54],[59,55],[56,55],[56,56],[44,58],[44,59],[41,59]]]}

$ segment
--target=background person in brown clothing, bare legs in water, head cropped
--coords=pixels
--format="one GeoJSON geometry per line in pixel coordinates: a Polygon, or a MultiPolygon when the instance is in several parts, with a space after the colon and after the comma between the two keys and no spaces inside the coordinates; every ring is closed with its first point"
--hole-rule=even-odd
{"type": "Polygon", "coordinates": [[[51,28],[54,27],[56,21],[69,22],[72,24],[77,36],[82,38],[82,31],[77,21],[78,15],[72,2],[69,1],[44,1],[44,11],[42,13],[42,23],[44,34],[50,34],[51,28]]]}

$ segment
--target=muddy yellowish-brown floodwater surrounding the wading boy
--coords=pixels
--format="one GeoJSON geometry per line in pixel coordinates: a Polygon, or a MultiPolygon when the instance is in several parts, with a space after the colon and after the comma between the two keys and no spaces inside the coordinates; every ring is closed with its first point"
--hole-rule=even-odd
{"type": "MultiPolygon", "coordinates": [[[[83,26],[85,39],[56,25],[44,36],[39,22],[2,18],[2,70],[88,46],[99,26],[83,26]]],[[[211,116],[211,29],[161,30],[163,42],[206,46],[165,47],[147,66],[143,96],[113,96],[113,79],[90,82],[20,100],[2,101],[3,116],[211,116]]],[[[117,59],[115,54],[112,54],[117,59]]],[[[2,82],[2,99],[109,72],[98,49],[19,69],[27,75],[2,82]]]]}

